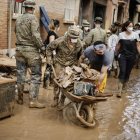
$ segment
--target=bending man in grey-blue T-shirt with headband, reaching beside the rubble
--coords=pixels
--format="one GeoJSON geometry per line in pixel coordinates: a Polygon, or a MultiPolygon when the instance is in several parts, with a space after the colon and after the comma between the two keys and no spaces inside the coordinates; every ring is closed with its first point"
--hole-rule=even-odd
{"type": "Polygon", "coordinates": [[[80,57],[80,62],[83,63],[85,58],[88,59],[90,68],[100,72],[98,82],[96,83],[96,96],[111,95],[103,94],[107,83],[107,71],[111,63],[110,52],[106,49],[106,45],[101,41],[96,41],[84,50],[80,57]]]}

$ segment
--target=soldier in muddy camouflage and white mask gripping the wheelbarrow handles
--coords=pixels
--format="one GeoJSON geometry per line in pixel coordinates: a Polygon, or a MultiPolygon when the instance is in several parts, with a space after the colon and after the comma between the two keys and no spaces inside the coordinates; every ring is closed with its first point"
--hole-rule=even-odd
{"type": "MultiPolygon", "coordinates": [[[[76,26],[71,26],[65,36],[60,37],[50,43],[47,48],[47,60],[49,64],[54,65],[56,75],[67,66],[77,65],[79,57],[82,53],[82,42],[79,39],[79,29],[76,26]],[[52,53],[56,50],[55,61],[52,62],[52,53]]],[[[59,88],[54,83],[54,103],[53,107],[58,105],[59,88]]],[[[62,98],[61,103],[64,103],[62,98]]],[[[61,105],[62,105],[61,104],[61,105]]]]}

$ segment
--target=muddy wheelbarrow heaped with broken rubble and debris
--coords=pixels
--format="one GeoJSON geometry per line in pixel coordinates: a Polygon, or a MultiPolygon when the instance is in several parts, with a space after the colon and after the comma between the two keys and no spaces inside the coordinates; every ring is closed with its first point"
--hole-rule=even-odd
{"type": "Polygon", "coordinates": [[[61,108],[64,119],[84,127],[94,127],[94,104],[107,99],[95,96],[95,83],[100,73],[83,63],[79,67],[65,67],[58,77],[53,66],[52,69],[54,82],[59,87],[59,101],[64,97],[67,99],[61,108]]]}

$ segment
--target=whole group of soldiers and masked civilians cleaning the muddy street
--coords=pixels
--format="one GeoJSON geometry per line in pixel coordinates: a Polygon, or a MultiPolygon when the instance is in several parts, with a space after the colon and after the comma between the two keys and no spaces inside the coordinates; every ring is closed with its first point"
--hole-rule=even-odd
{"type": "MultiPolygon", "coordinates": [[[[16,21],[16,63],[17,63],[17,88],[19,104],[23,104],[23,89],[26,70],[31,70],[31,82],[29,90],[29,107],[44,108],[45,105],[38,101],[39,87],[41,84],[41,57],[40,53],[46,53],[47,67],[52,66],[56,75],[66,66],[79,65],[88,59],[89,66],[100,72],[96,85],[97,94],[104,92],[107,72],[114,64],[114,57],[119,62],[119,94],[126,87],[137,52],[140,53],[139,36],[133,31],[133,23],[127,21],[120,32],[116,26],[112,26],[112,35],[107,38],[106,31],[101,28],[103,20],[96,17],[95,28],[90,30],[90,24],[84,20],[82,29],[76,25],[70,26],[62,37],[58,37],[60,28],[59,20],[52,19],[49,25],[50,31],[45,42],[42,42],[39,33],[39,24],[35,17],[35,1],[24,1],[25,13],[16,21]]],[[[114,69],[116,67],[114,66],[114,69]]],[[[47,68],[46,68],[47,70],[47,68]]],[[[45,87],[45,84],[44,84],[45,87]]],[[[54,83],[54,103],[58,105],[59,88],[54,83]]],[[[62,100],[62,103],[64,100],[62,100]]]]}

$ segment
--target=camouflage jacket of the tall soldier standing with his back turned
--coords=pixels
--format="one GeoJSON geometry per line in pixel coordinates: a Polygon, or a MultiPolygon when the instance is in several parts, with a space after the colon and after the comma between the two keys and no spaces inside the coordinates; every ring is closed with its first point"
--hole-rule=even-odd
{"type": "Polygon", "coordinates": [[[39,33],[39,24],[35,15],[25,13],[16,20],[16,45],[21,49],[38,50],[43,46],[39,33]],[[30,49],[29,49],[30,48],[30,49]]]}

